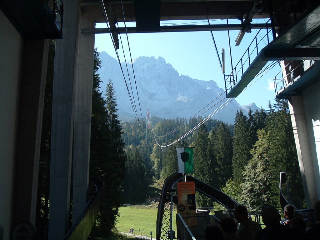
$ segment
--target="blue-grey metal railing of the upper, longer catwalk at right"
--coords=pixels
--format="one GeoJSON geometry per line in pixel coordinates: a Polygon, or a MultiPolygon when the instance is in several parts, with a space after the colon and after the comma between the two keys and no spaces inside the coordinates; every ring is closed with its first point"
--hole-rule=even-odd
{"type": "Polygon", "coordinates": [[[260,28],[247,50],[242,55],[241,59],[232,69],[230,75],[226,76],[226,93],[228,93],[228,91],[232,89],[232,87],[238,82],[238,80],[241,79],[241,76],[244,74],[245,70],[249,68],[250,64],[252,63],[254,58],[258,56],[259,52],[273,40],[272,28],[267,27],[269,21],[271,20],[269,19],[265,23],[264,27],[260,28]],[[267,33],[264,36],[260,36],[260,32],[263,28],[266,28],[267,33]]]}

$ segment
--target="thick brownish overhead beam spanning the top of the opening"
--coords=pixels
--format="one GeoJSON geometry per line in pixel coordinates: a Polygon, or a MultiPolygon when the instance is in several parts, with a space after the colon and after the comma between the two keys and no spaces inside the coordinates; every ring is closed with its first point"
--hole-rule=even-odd
{"type": "MultiPolygon", "coordinates": [[[[274,1],[276,9],[280,9],[286,0],[274,1]]],[[[117,22],[136,21],[133,1],[104,1],[105,6],[112,5],[117,22]],[[123,8],[122,8],[123,6],[123,8]]],[[[101,12],[100,1],[83,1],[81,6],[95,16],[96,22],[105,22],[101,12]]],[[[239,19],[252,9],[252,0],[240,1],[161,1],[160,20],[207,20],[207,19],[239,19]]],[[[108,15],[109,16],[109,15],[108,15]]],[[[269,18],[268,1],[262,1],[262,12],[255,13],[254,19],[269,18]]]]}

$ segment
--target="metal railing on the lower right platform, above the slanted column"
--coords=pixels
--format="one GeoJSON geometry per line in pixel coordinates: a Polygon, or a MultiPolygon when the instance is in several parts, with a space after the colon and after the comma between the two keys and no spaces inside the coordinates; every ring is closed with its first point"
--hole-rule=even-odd
{"type": "Polygon", "coordinates": [[[286,64],[273,79],[276,94],[279,95],[279,92],[296,82],[314,63],[315,60],[292,60],[286,64]]]}

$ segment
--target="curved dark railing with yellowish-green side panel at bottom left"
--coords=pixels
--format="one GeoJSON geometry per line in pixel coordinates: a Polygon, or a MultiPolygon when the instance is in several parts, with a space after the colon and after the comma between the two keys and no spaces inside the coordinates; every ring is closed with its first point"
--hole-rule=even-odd
{"type": "Polygon", "coordinates": [[[99,178],[93,179],[96,190],[92,193],[84,211],[72,226],[64,240],[85,240],[89,237],[93,224],[105,199],[105,185],[99,178]]]}

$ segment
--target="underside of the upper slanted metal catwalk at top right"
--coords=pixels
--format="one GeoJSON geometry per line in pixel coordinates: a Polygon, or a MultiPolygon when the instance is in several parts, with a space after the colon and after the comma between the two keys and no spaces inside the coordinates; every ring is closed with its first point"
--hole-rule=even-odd
{"type": "MultiPolygon", "coordinates": [[[[288,53],[293,50],[299,44],[308,42],[308,44],[314,45],[311,40],[318,41],[313,36],[317,36],[320,31],[320,6],[316,7],[312,12],[306,14],[299,22],[296,22],[292,27],[288,27],[285,31],[262,49],[257,57],[251,62],[249,68],[241,76],[240,80],[231,88],[227,93],[227,98],[237,97],[244,88],[252,81],[252,79],[260,72],[260,70],[267,64],[268,60],[284,60],[286,57],[289,59],[290,56],[279,56],[274,55],[274,58],[270,57],[275,52],[288,53]],[[311,41],[311,42],[310,42],[311,41]],[[286,50],[286,51],[285,51],[286,50]],[[285,51],[285,52],[284,52],[285,51]],[[267,58],[265,58],[267,55],[267,58]]],[[[298,46],[300,49],[301,45],[298,46]]],[[[303,50],[293,50],[293,52],[303,50]]],[[[315,48],[315,51],[318,49],[315,48]]],[[[308,51],[306,50],[305,53],[308,51]]],[[[308,53],[310,54],[310,52],[308,53]]],[[[293,56],[291,56],[293,57],[293,56]]],[[[297,56],[294,60],[305,60],[309,56],[297,56]]],[[[309,59],[309,58],[308,58],[309,59]]],[[[310,58],[313,59],[313,58],[310,58]]]]}

